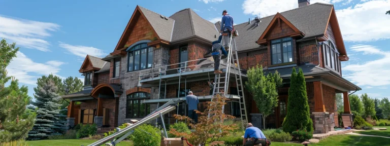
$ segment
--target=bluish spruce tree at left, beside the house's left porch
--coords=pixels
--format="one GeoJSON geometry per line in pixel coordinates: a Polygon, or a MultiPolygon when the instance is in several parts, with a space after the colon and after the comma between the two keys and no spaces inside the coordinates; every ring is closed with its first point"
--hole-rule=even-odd
{"type": "Polygon", "coordinates": [[[28,132],[28,140],[45,139],[51,135],[61,135],[67,130],[65,121],[61,120],[64,115],[60,114],[58,101],[61,97],[55,93],[57,87],[52,80],[47,80],[46,84],[34,88],[35,102],[32,102],[37,109],[37,119],[28,132]]]}

